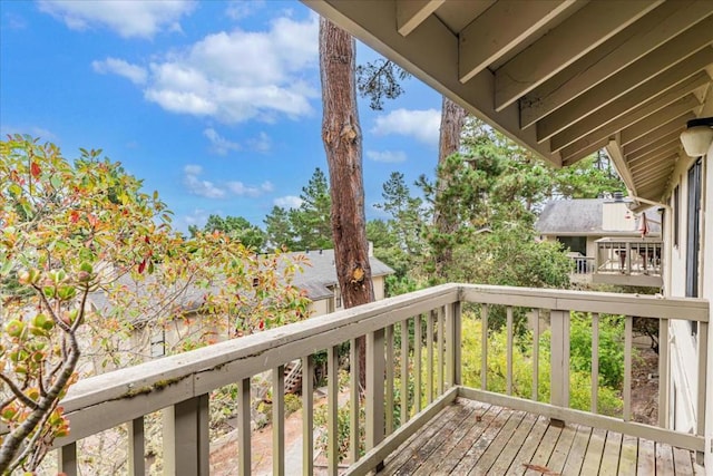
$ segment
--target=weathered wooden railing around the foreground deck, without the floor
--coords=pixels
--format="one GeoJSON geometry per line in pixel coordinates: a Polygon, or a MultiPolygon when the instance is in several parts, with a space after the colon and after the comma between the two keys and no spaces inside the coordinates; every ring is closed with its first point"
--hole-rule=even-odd
{"type": "MultiPolygon", "coordinates": [[[[656,319],[661,342],[667,342],[670,319],[699,322],[699,389],[705,389],[705,362],[709,303],[692,299],[656,299],[626,294],[536,290],[506,286],[446,284],[410,294],[387,299],[360,308],[313,318],[258,334],[217,343],[183,354],[166,357],[133,368],[88,378],[75,385],[62,401],[71,433],[57,441],[60,469],[71,476],[78,473],[77,441],[99,431],[127,425],[127,454],[133,475],[146,472],[144,453],[144,418],[165,410],[170,415],[164,430],[164,467],[175,474],[206,475],[209,473],[209,394],[229,383],[237,383],[238,464],[236,473],[251,473],[251,378],[272,371],[272,473],[295,474],[285,468],[285,400],[284,367],[302,360],[302,468],[314,470],[314,357],[326,350],[326,466],[330,474],[339,469],[339,363],[340,349],[349,347],[349,473],[364,474],[378,467],[400,443],[432,418],[457,396],[507,405],[540,415],[602,428],[615,429],[692,450],[703,450],[705,391],[699,391],[695,435],[665,429],[664,415],[660,427],[631,421],[631,388],[633,356],[633,318],[656,319]],[[481,320],[480,389],[462,387],[462,323],[470,303],[481,320]],[[489,309],[504,307],[507,332],[507,386],[502,395],[488,389],[488,319],[489,309]],[[539,334],[533,329],[533,397],[517,398],[512,394],[512,349],[515,315],[519,309],[549,314],[550,339],[550,401],[537,401],[539,381],[539,334]],[[593,339],[598,337],[599,314],[624,314],[624,410],[622,418],[597,414],[597,346],[593,344],[592,411],[569,409],[569,311],[592,313],[593,339]],[[359,387],[356,340],[365,338],[365,389],[359,387]],[[362,396],[362,398],[360,398],[362,396]],[[365,411],[360,407],[364,406],[365,411]],[[363,419],[360,415],[365,415],[363,419]],[[395,417],[398,415],[398,418],[395,417]],[[365,454],[359,449],[360,426],[365,429],[365,454]]],[[[468,310],[468,315],[471,311],[468,310]]],[[[473,315],[475,315],[473,314],[473,315]]],[[[535,322],[539,322],[535,319],[535,322]]],[[[344,359],[341,359],[344,360],[344,359]]],[[[667,348],[661,346],[660,381],[668,380],[667,348]]],[[[472,363],[472,362],[471,362],[472,363]]],[[[661,389],[663,405],[665,396],[661,389]]],[[[344,395],[344,391],[342,391],[344,395]]],[[[707,396],[713,392],[709,389],[707,396]]],[[[663,411],[662,411],[663,414],[663,411]]]]}

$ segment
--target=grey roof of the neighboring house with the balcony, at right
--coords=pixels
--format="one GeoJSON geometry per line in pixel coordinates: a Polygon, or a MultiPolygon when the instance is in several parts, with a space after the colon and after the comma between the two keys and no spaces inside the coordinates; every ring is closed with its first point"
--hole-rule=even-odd
{"type": "MultiPolygon", "coordinates": [[[[633,231],[604,230],[604,204],[611,198],[554,200],[548,202],[535,223],[535,230],[543,235],[577,236],[636,236],[638,220],[633,231]]],[[[660,216],[656,208],[644,212],[651,234],[661,234],[660,216]]]]}

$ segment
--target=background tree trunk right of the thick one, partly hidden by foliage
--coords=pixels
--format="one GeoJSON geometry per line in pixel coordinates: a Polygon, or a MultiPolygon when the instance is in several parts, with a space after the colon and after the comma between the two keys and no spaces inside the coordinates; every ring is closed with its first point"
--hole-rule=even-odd
{"type": "MultiPolygon", "coordinates": [[[[441,129],[438,142],[438,165],[442,166],[446,163],[446,158],[457,153],[460,149],[460,133],[466,124],[466,109],[448,99],[443,96],[443,104],[441,106],[441,129]]],[[[436,203],[439,203],[439,195],[448,187],[449,177],[440,175],[437,177],[436,183],[436,203]]],[[[439,233],[447,235],[451,234],[457,223],[451,223],[448,214],[440,213],[438,206],[433,211],[433,223],[439,233]]],[[[436,274],[442,276],[443,270],[452,261],[452,250],[443,247],[436,256],[436,274]]]]}

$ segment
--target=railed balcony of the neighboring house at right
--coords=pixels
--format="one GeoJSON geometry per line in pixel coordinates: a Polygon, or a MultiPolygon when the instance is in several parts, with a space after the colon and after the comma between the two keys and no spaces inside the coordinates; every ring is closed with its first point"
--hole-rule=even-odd
{"type": "Polygon", "coordinates": [[[647,237],[604,237],[596,241],[593,282],[661,288],[663,242],[647,237]]]}

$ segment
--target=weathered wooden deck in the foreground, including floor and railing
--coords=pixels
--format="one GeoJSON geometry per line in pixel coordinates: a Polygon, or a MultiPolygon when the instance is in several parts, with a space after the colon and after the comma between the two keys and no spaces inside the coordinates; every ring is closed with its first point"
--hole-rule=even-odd
{"type": "MultiPolygon", "coordinates": [[[[178,475],[211,474],[209,396],[236,383],[237,449],[231,474],[257,472],[252,444],[255,434],[251,430],[251,379],[272,372],[272,474],[629,474],[635,467],[641,468],[639,474],[654,474],[647,470],[654,467],[661,474],[693,474],[704,450],[706,395],[699,392],[693,434],[667,429],[665,411],[661,411],[658,425],[635,422],[633,321],[656,320],[662,342],[667,341],[670,320],[695,321],[699,339],[705,340],[709,315],[707,301],[699,299],[445,284],[81,380],[61,404],[70,418],[71,434],[56,441],[59,469],[69,476],[82,473],[79,443],[120,427],[124,430],[117,434],[125,437],[119,446],[129,473],[146,474],[145,418],[162,410],[164,468],[178,475]],[[587,411],[569,408],[570,311],[590,313],[594,383],[587,411]],[[531,344],[524,350],[531,395],[524,396],[516,388],[520,380],[515,375],[514,351],[517,317],[525,313],[534,318],[535,326],[531,344]],[[597,342],[600,314],[606,313],[625,315],[623,406],[615,417],[600,415],[598,401],[597,342]],[[463,336],[462,331],[466,319],[477,319],[481,329],[488,329],[496,315],[502,318],[507,336],[500,349],[506,362],[501,392],[490,386],[488,360],[498,349],[489,347],[488,332],[463,336]],[[550,336],[548,401],[540,401],[538,396],[545,379],[539,370],[540,357],[545,356],[539,343],[543,336],[550,336]],[[355,342],[361,337],[367,341],[367,387],[363,398],[358,398],[355,342]],[[466,338],[480,341],[477,358],[462,346],[466,338]],[[351,362],[349,390],[340,392],[338,369],[345,360],[346,348],[351,362]],[[314,463],[319,430],[313,428],[312,376],[315,354],[323,350],[328,448],[321,466],[314,463]],[[297,451],[302,456],[295,459],[285,441],[284,366],[297,359],[302,360],[303,372],[302,448],[297,451]],[[478,370],[478,388],[463,386],[463,377],[478,370]],[[336,435],[344,395],[351,426],[346,462],[340,464],[336,435]],[[361,425],[365,454],[360,454],[356,444],[361,425]]],[[[700,349],[697,388],[706,388],[707,342],[701,342],[700,349]]],[[[667,348],[662,346],[661,409],[670,404],[668,369],[667,348]]],[[[707,394],[713,398],[710,386],[707,394]]]]}

